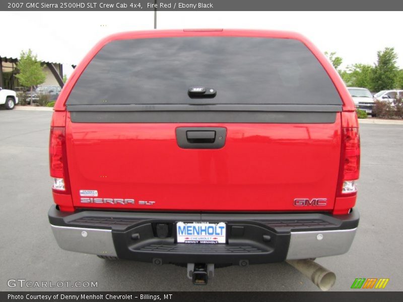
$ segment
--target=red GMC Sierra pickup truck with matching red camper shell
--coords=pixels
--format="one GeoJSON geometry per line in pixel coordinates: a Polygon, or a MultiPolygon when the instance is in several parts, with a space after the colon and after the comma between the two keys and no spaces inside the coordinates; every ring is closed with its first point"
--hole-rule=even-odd
{"type": "Polygon", "coordinates": [[[50,129],[58,245],[214,265],[346,253],[359,213],[354,102],[305,37],[127,32],[76,67],[50,129]]]}

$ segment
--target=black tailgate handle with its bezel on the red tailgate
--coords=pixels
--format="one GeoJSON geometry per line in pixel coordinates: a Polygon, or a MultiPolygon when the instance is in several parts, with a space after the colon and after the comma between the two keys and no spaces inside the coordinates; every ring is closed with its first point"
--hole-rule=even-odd
{"type": "Polygon", "coordinates": [[[219,149],[225,144],[224,127],[178,127],[176,141],[184,149],[219,149]]]}

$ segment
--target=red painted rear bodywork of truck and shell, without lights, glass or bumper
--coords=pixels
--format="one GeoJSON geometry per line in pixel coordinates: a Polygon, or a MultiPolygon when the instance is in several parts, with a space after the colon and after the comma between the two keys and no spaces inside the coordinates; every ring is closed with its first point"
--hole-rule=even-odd
{"type": "Polygon", "coordinates": [[[55,104],[52,126],[66,124],[72,195],[53,193],[62,210],[109,208],[196,211],[333,211],[347,213],[356,193],[340,191],[342,124],[358,127],[354,102],[325,56],[297,33],[256,30],[144,31],[109,36],[76,67],[55,104]],[[65,102],[91,59],[108,42],[178,36],[243,36],[297,39],[316,56],[343,100],[333,124],[72,123],[65,102]],[[60,114],[58,114],[60,113],[60,114]],[[181,149],[178,126],[227,128],[222,149],[181,149]],[[80,203],[79,190],[132,204],[80,203]],[[337,197],[338,196],[338,197],[337,197]],[[69,199],[70,198],[70,199],[69,199]],[[293,205],[295,198],[326,198],[326,206],[293,205]],[[154,201],[153,205],[139,201],[154,201]],[[337,203],[337,204],[336,204],[337,203]]]}

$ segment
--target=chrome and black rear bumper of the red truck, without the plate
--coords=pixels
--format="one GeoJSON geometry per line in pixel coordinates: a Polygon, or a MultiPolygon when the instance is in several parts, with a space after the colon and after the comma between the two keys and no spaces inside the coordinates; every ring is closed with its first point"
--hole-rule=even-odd
{"type": "Polygon", "coordinates": [[[154,263],[260,264],[346,253],[360,214],[48,212],[60,248],[154,263]],[[226,223],[225,244],[176,242],[178,221],[226,223]]]}

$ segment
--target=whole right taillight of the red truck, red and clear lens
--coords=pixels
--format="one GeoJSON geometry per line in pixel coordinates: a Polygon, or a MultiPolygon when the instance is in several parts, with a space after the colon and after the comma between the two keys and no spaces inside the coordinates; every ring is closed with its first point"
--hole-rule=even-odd
{"type": "Polygon", "coordinates": [[[360,176],[360,134],[358,128],[343,128],[342,142],[342,194],[357,191],[355,181],[360,176]]]}

